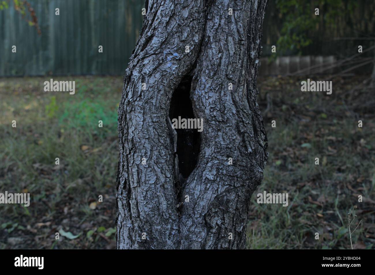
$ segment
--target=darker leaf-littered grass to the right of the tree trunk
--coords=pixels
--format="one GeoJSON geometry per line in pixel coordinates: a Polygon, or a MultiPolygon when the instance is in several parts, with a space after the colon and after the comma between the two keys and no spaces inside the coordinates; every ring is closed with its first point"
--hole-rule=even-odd
{"type": "MultiPolygon", "coordinates": [[[[361,80],[335,79],[332,95],[300,92],[295,79],[260,80],[261,97],[272,95],[273,107],[265,115],[270,156],[252,197],[248,247],[350,249],[347,214],[357,205],[357,222],[364,224],[352,235],[353,248],[374,248],[375,102],[372,110],[361,109],[366,98],[372,100],[371,92],[347,95],[361,80]],[[264,190],[288,193],[288,207],[257,204],[256,194],[264,190]]],[[[265,100],[260,102],[266,110],[265,100]]]]}

